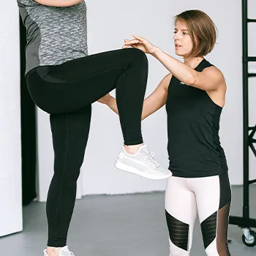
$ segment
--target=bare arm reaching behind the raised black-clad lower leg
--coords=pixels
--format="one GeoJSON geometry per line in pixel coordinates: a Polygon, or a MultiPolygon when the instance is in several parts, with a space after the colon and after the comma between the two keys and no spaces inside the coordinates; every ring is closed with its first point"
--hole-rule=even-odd
{"type": "MultiPolygon", "coordinates": [[[[157,89],[155,89],[146,99],[144,99],[141,120],[150,116],[152,113],[156,112],[157,110],[162,108],[163,105],[165,105],[167,99],[167,89],[171,77],[172,74],[167,74],[165,78],[163,78],[162,81],[159,83],[157,89]]],[[[110,96],[110,94],[105,95],[105,97],[102,97],[98,101],[105,105],[108,105],[111,110],[118,114],[116,99],[110,96]]]]}

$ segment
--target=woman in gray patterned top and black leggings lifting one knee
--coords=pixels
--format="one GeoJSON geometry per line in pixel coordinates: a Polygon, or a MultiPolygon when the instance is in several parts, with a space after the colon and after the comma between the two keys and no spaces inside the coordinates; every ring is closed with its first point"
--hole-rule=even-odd
{"type": "Polygon", "coordinates": [[[143,145],[141,113],[148,61],[138,49],[88,56],[83,0],[17,0],[27,31],[26,82],[35,104],[50,114],[54,175],[47,200],[45,256],[70,256],[67,232],[75,206],[91,104],[116,89],[124,146],[115,166],[151,179],[170,177],[143,145]]]}

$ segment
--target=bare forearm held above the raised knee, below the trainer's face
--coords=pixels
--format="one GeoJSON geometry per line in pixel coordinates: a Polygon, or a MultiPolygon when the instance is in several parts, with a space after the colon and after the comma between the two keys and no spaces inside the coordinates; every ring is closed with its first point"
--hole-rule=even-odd
{"type": "Polygon", "coordinates": [[[178,80],[181,82],[191,85],[195,81],[196,71],[186,64],[178,61],[172,56],[164,53],[161,49],[157,48],[154,53],[152,53],[156,59],[158,59],[178,80]]]}

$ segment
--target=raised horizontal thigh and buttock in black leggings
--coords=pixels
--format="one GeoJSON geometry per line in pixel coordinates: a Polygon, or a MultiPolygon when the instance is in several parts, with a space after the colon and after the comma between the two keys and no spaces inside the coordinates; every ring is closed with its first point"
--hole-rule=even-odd
{"type": "MultiPolygon", "coordinates": [[[[118,80],[136,59],[138,49],[114,50],[59,66],[37,67],[27,83],[34,102],[48,113],[69,113],[90,105],[116,88],[118,80]]],[[[143,70],[142,65],[138,65],[143,70]]],[[[132,75],[133,76],[133,75],[132,75]]]]}

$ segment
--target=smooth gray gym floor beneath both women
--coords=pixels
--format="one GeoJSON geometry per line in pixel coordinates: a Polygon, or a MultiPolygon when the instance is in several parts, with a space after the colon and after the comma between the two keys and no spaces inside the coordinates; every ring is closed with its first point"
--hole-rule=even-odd
{"type": "MultiPolygon", "coordinates": [[[[251,217],[256,218],[256,186],[251,189],[251,217]]],[[[69,229],[69,249],[76,256],[168,256],[162,192],[86,196],[78,200],[69,229]]],[[[231,214],[241,216],[242,188],[233,187],[231,214]]],[[[23,209],[24,230],[0,239],[3,256],[42,256],[47,226],[45,203],[31,203],[23,209]]],[[[203,256],[199,223],[195,225],[192,256],[203,256]]],[[[232,256],[256,255],[256,246],[241,241],[239,227],[230,225],[232,256]]]]}

